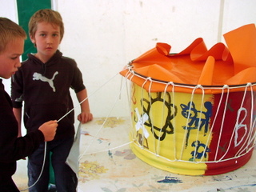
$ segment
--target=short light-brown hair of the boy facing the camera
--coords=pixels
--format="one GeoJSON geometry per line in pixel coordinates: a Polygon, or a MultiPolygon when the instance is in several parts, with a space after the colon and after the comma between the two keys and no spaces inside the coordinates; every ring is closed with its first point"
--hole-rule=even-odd
{"type": "Polygon", "coordinates": [[[49,22],[51,24],[57,25],[60,28],[61,41],[64,35],[64,24],[62,22],[62,16],[58,11],[43,9],[35,12],[30,18],[29,22],[29,33],[30,36],[34,38],[34,34],[37,31],[39,22],[49,22]]]}

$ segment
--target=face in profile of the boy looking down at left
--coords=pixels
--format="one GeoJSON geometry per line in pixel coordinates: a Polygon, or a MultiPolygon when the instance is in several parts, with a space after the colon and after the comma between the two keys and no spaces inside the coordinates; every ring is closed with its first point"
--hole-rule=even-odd
{"type": "Polygon", "coordinates": [[[10,78],[21,66],[19,57],[24,49],[24,39],[16,38],[6,45],[6,50],[0,53],[0,77],[10,78]]]}

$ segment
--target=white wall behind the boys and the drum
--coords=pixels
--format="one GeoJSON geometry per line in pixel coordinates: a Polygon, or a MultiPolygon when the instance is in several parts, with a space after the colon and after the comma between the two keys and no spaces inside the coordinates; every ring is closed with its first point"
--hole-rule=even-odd
{"type": "MultiPolygon", "coordinates": [[[[13,0],[0,3],[1,16],[16,18],[13,0]]],[[[118,72],[156,42],[177,53],[202,37],[210,48],[223,41],[222,34],[255,23],[254,7],[254,0],[54,0],[66,30],[60,50],[78,62],[94,117],[106,116],[113,106],[118,72]]],[[[112,116],[129,113],[125,96],[118,103],[112,116]]]]}

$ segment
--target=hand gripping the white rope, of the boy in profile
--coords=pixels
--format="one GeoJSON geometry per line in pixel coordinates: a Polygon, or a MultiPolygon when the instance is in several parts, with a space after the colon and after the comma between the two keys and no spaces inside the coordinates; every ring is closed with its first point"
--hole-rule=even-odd
{"type": "Polygon", "coordinates": [[[58,123],[56,120],[45,122],[38,130],[42,131],[43,136],[45,137],[45,142],[50,142],[54,139],[56,134],[58,123]]]}

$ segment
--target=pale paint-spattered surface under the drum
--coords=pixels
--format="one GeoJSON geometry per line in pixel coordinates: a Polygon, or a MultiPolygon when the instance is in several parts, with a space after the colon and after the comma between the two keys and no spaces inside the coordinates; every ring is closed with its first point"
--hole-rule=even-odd
{"type": "MultiPolygon", "coordinates": [[[[256,154],[238,170],[214,176],[186,176],[158,170],[130,150],[129,118],[94,118],[81,126],[79,192],[256,191],[256,154]]],[[[14,181],[26,189],[26,160],[14,181]]],[[[26,191],[26,190],[25,190],[26,191]]]]}

